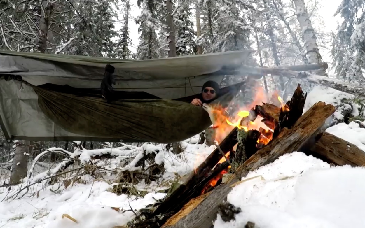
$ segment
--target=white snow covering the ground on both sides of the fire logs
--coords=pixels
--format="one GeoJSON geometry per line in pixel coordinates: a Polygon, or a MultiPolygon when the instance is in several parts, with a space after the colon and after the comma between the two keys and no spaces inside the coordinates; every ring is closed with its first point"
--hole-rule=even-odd
{"type": "MultiPolygon", "coordinates": [[[[316,101],[336,103],[347,97],[348,94],[316,87],[308,94],[306,109],[316,101]]],[[[340,111],[335,115],[341,119],[340,111]]],[[[365,152],[365,128],[360,128],[358,123],[340,123],[326,131],[365,152]]],[[[184,178],[214,150],[214,146],[196,144],[198,139],[199,136],[195,136],[185,140],[182,144],[185,152],[180,155],[167,152],[164,145],[156,146],[160,151],[155,160],[164,161],[166,172],[161,180],[151,185],[137,185],[139,190],[149,191],[143,197],[117,196],[112,192],[113,177],[95,180],[88,175],[67,188],[65,185],[46,188],[40,183],[32,185],[26,195],[15,200],[6,198],[25,184],[13,187],[11,193],[8,188],[0,188],[0,200],[4,199],[0,202],[0,228],[112,228],[124,225],[134,216],[131,208],[138,210],[163,198],[166,194],[158,190],[184,178]],[[34,196],[29,196],[30,192],[35,193],[34,196]],[[76,219],[77,223],[62,218],[64,214],[76,219]]],[[[228,201],[240,207],[242,212],[235,221],[228,223],[218,216],[215,228],[242,228],[247,221],[260,228],[365,227],[363,167],[330,167],[312,156],[293,152],[249,173],[245,179],[251,177],[256,178],[240,183],[228,194],[228,201]]],[[[19,196],[23,193],[25,191],[19,196]]]]}

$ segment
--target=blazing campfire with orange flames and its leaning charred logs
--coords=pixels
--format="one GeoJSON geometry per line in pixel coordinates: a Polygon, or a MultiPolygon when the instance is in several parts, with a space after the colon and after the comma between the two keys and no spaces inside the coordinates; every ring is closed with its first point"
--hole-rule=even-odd
{"type": "MultiPolygon", "coordinates": [[[[211,227],[217,213],[234,216],[236,210],[230,205],[222,206],[222,199],[249,171],[269,164],[285,153],[301,151],[308,143],[311,150],[333,154],[332,149],[320,144],[313,146],[322,137],[322,126],[335,108],[318,102],[302,115],[306,97],[298,84],[286,103],[277,94],[266,100],[257,97],[252,104],[231,115],[219,105],[204,104],[215,129],[217,147],[180,187],[163,201],[156,202],[153,209],[140,210],[128,227],[211,227]],[[226,173],[232,175],[222,183],[226,173]]],[[[325,138],[323,140],[332,140],[328,136],[325,138]]],[[[346,143],[341,145],[349,150],[346,143]]],[[[338,147],[338,144],[334,146],[338,147]]],[[[337,153],[339,151],[342,150],[337,153]]],[[[349,153],[341,156],[346,154],[349,153]]],[[[335,158],[339,161],[339,156],[335,158]]]]}

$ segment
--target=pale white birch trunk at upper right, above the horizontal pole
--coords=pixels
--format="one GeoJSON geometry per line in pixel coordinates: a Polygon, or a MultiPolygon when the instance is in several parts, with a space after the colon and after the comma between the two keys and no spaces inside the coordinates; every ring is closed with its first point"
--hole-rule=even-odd
{"type": "Polygon", "coordinates": [[[304,0],[293,0],[296,8],[297,19],[303,34],[303,40],[307,50],[308,64],[321,63],[322,57],[319,54],[317,39],[314,34],[312,22],[309,19],[304,0]]]}

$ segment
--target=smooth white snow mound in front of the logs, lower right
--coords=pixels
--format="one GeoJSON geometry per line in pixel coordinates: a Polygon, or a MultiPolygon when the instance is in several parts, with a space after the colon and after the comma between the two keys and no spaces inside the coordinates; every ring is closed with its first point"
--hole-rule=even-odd
{"type": "Polygon", "coordinates": [[[235,221],[218,215],[214,228],[357,228],[365,226],[365,168],[330,167],[293,152],[249,173],[227,200],[242,209],[235,221]]]}

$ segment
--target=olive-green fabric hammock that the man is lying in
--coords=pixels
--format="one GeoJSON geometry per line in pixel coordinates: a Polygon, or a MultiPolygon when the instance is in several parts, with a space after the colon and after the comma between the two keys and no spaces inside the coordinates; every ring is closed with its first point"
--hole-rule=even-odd
{"type": "MultiPolygon", "coordinates": [[[[215,102],[228,102],[242,84],[223,88],[224,94],[215,102]]],[[[107,103],[98,90],[58,85],[33,86],[33,89],[42,112],[74,134],[123,142],[173,143],[199,134],[211,125],[203,108],[187,103],[192,97],[184,102],[144,92],[119,91],[118,96],[124,99],[107,103]],[[128,96],[138,99],[125,99],[128,96]]]]}

